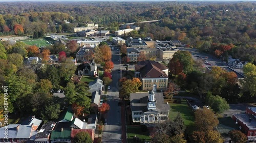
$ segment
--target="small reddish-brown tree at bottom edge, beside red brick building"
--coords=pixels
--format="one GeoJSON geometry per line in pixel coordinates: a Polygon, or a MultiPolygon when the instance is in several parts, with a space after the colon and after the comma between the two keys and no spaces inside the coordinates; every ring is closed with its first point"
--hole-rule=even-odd
{"type": "Polygon", "coordinates": [[[231,140],[234,143],[245,143],[247,142],[247,137],[244,133],[242,133],[240,130],[231,130],[228,132],[231,140]]]}

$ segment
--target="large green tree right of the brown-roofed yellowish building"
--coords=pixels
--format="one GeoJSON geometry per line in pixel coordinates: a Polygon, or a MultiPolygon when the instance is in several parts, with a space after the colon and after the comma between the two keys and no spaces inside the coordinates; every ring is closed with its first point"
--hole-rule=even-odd
{"type": "Polygon", "coordinates": [[[174,53],[172,59],[174,59],[174,61],[179,61],[182,64],[183,72],[185,74],[193,70],[193,58],[188,51],[179,50],[174,53]]]}

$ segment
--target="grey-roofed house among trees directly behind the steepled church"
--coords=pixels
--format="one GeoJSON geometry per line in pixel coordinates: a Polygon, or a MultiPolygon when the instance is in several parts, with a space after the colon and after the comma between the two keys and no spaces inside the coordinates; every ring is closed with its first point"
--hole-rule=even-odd
{"type": "Polygon", "coordinates": [[[94,53],[93,47],[86,47],[85,45],[79,49],[76,53],[76,60],[78,61],[88,61],[87,57],[90,57],[94,53]]]}

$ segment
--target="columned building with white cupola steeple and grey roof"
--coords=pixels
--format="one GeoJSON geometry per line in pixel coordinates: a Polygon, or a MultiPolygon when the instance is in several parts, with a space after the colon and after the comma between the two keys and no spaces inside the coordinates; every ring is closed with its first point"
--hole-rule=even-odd
{"type": "Polygon", "coordinates": [[[164,103],[163,93],[132,93],[130,103],[134,123],[155,124],[168,119],[170,106],[164,103]]]}

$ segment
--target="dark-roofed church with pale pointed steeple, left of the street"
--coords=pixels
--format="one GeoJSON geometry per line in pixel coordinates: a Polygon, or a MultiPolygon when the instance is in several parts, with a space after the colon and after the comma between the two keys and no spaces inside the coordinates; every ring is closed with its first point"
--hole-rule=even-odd
{"type": "Polygon", "coordinates": [[[84,61],[77,67],[76,73],[78,75],[89,75],[96,76],[97,75],[97,65],[92,58],[91,61],[84,61]]]}

